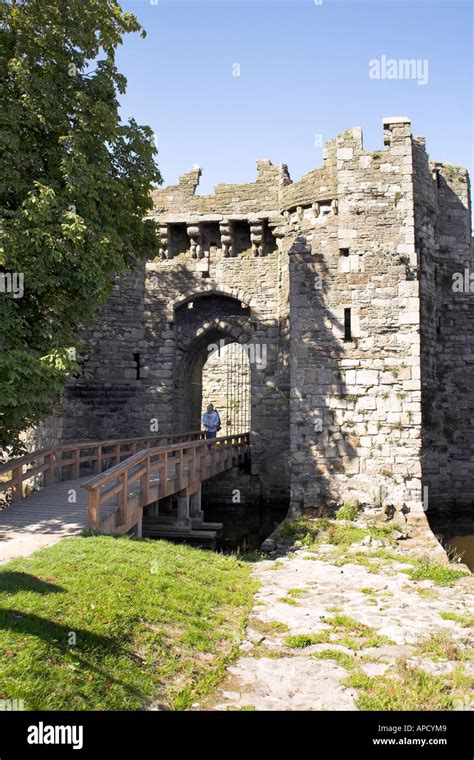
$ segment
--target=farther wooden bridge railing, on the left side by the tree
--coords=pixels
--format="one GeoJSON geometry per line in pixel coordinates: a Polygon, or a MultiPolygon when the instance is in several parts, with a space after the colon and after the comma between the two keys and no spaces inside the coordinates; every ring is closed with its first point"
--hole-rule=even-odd
{"type": "MultiPolygon", "coordinates": [[[[49,448],[38,449],[36,451],[29,452],[15,459],[11,459],[8,462],[0,464],[0,475],[11,472],[12,477],[9,480],[0,482],[0,493],[4,491],[12,490],[12,501],[19,501],[23,498],[23,483],[36,475],[43,474],[43,485],[49,485],[54,481],[55,470],[61,469],[67,466],[71,466],[71,478],[79,477],[79,469],[84,462],[93,462],[100,474],[102,467],[102,460],[117,460],[117,464],[122,459],[127,459],[129,456],[133,456],[137,447],[140,444],[154,444],[157,442],[166,442],[181,440],[202,440],[205,434],[202,430],[193,430],[187,433],[176,433],[173,435],[149,435],[139,436],[134,438],[108,438],[105,440],[96,441],[74,441],[71,443],[62,443],[57,446],[51,446],[49,448]],[[121,451],[122,446],[127,446],[132,451],[121,451]],[[112,452],[106,452],[104,449],[113,448],[112,452]],[[82,451],[92,450],[93,453],[89,456],[82,456],[82,451]],[[69,458],[60,458],[57,455],[69,452],[69,458]],[[36,463],[42,460],[41,464],[37,464],[36,467],[23,472],[23,467],[32,463],[36,463]]],[[[163,443],[164,445],[164,443],[163,443]]]]}

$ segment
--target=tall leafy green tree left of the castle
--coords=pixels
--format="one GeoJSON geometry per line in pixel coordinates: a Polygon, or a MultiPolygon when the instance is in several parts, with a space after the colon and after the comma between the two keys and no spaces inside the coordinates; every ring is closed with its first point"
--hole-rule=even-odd
{"type": "MultiPolygon", "coordinates": [[[[120,119],[115,0],[0,0],[0,449],[51,412],[78,327],[155,246],[149,127],[120,119]],[[22,297],[5,292],[11,273],[22,297]],[[4,291],[4,292],[1,292],[4,291]]],[[[19,293],[17,292],[17,295],[19,293]]],[[[71,350],[72,349],[72,350],[71,350]]]]}

